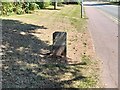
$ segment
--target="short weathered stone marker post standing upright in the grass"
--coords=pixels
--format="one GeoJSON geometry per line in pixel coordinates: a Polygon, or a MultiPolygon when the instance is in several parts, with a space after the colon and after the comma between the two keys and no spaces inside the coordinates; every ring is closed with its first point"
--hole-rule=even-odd
{"type": "Polygon", "coordinates": [[[66,57],[66,32],[53,33],[53,55],[66,57]]]}

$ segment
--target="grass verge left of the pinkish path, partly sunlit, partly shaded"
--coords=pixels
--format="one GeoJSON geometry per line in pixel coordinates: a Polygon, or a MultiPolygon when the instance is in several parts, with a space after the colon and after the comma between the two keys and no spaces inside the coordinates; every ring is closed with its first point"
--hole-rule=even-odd
{"type": "MultiPolygon", "coordinates": [[[[40,65],[38,63],[38,60],[43,60],[45,57],[40,56],[39,51],[40,45],[43,44],[42,40],[46,39],[46,37],[44,37],[45,35],[49,35],[55,30],[62,29],[62,31],[64,31],[64,28],[65,30],[68,29],[66,30],[67,32],[71,32],[71,26],[74,27],[73,32],[77,31],[80,35],[83,35],[84,32],[86,32],[86,19],[80,18],[79,5],[67,5],[60,10],[40,10],[33,14],[14,15],[5,18],[12,20],[5,19],[3,21],[3,26],[7,27],[7,29],[3,28],[3,39],[4,43],[6,43],[3,43],[4,46],[6,46],[4,55],[6,61],[4,62],[2,69],[3,88],[99,87],[97,86],[99,63],[89,55],[82,54],[81,56],[78,56],[82,60],[79,64],[40,65]],[[20,20],[25,24],[14,21],[13,19],[20,20]],[[38,26],[43,25],[49,29],[44,29],[42,26],[42,30],[39,29],[37,31],[37,35],[39,36],[36,38],[35,35],[31,34],[34,33],[32,32],[35,28],[33,24],[38,26]],[[29,29],[32,29],[32,31],[29,31],[29,29]],[[27,32],[27,34],[21,35],[21,31],[24,31],[24,33],[27,32]],[[16,37],[13,38],[12,36],[16,37]],[[10,38],[12,40],[10,40],[10,38]],[[24,41],[24,39],[26,41],[24,41]],[[22,49],[20,49],[21,47],[22,49]]],[[[72,36],[75,36],[74,33],[72,36]]],[[[82,36],[82,38],[82,43],[84,45],[80,48],[81,51],[82,49],[87,49],[86,47],[89,45],[88,42],[85,41],[86,37],[82,36]]],[[[74,41],[76,42],[77,40],[75,39],[74,41]]]]}

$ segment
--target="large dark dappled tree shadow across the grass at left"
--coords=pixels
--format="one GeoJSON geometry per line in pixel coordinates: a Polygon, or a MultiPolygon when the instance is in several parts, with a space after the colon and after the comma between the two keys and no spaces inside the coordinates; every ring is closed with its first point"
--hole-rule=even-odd
{"type": "Polygon", "coordinates": [[[65,65],[48,63],[48,55],[41,53],[43,50],[50,51],[51,46],[31,34],[36,29],[47,30],[44,26],[17,20],[2,20],[2,87],[61,88],[75,81],[76,77],[79,77],[77,80],[85,78],[67,62],[65,65]],[[42,61],[43,65],[40,64],[42,61]],[[60,80],[65,73],[74,77],[68,80],[69,83],[60,80]]]}

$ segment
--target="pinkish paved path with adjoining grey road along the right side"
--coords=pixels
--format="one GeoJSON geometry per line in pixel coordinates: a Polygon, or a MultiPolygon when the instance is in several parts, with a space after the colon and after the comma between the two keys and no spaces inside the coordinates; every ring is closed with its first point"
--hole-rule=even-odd
{"type": "Polygon", "coordinates": [[[85,6],[94,49],[102,61],[101,80],[105,88],[118,87],[118,23],[114,19],[117,18],[115,7],[93,3],[85,6]],[[108,8],[112,8],[114,14],[108,8]]]}

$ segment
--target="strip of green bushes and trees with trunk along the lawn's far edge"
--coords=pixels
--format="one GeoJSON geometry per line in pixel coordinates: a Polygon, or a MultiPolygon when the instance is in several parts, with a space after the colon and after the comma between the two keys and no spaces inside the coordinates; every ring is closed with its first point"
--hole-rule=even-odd
{"type": "Polygon", "coordinates": [[[33,0],[34,2],[30,2],[30,0],[15,0],[17,2],[1,2],[2,6],[0,6],[1,13],[0,15],[10,15],[10,14],[24,14],[31,13],[36,9],[44,9],[49,5],[53,5],[54,9],[57,6],[63,6],[64,4],[69,4],[70,0],[42,0],[38,2],[37,0],[33,0]]]}

